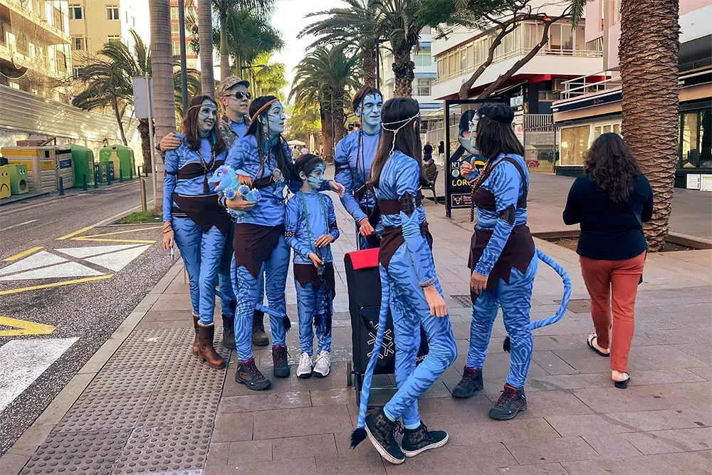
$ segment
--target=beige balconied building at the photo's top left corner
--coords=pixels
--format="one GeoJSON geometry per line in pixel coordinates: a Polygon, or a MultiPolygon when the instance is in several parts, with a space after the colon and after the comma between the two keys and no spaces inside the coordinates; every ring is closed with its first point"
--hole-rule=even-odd
{"type": "Polygon", "coordinates": [[[0,85],[68,103],[67,1],[0,0],[0,85]]]}

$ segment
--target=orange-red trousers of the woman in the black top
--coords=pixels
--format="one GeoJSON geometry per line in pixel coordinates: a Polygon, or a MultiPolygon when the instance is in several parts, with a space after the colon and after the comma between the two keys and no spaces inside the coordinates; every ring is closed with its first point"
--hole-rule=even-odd
{"type": "Polygon", "coordinates": [[[611,369],[628,370],[635,330],[635,297],[645,253],[622,261],[579,256],[581,273],[591,296],[591,317],[601,348],[610,348],[611,369]]]}

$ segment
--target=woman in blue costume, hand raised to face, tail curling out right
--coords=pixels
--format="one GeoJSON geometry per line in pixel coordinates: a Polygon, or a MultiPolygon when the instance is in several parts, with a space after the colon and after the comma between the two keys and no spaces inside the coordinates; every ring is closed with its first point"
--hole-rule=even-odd
{"type": "MultiPolygon", "coordinates": [[[[472,323],[467,362],[453,397],[471,397],[483,388],[482,366],[499,308],[511,338],[511,360],[501,397],[490,410],[493,419],[513,419],[527,409],[524,385],[533,350],[531,297],[538,256],[562,277],[565,272],[539,253],[527,226],[529,172],[524,148],[512,130],[514,111],[508,105],[486,104],[473,115],[474,145],[486,165],[478,174],[469,162],[461,167],[470,180],[477,225],[471,239],[468,266],[472,271],[472,323]]],[[[474,209],[474,208],[473,208],[474,209]]],[[[567,276],[565,277],[565,281],[567,276]]],[[[565,296],[564,301],[568,297],[565,296]]],[[[536,326],[553,323],[536,322],[536,326]]]]}

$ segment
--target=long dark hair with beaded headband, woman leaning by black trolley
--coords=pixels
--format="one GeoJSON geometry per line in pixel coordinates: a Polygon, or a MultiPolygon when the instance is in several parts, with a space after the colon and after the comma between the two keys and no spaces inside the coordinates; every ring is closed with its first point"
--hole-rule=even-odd
{"type": "Polygon", "coordinates": [[[418,115],[420,106],[412,98],[393,98],[383,105],[381,116],[383,119],[383,132],[378,141],[378,150],[371,166],[371,181],[378,187],[381,171],[391,155],[391,150],[400,152],[414,158],[422,169],[422,143],[420,142],[420,120],[413,118],[418,115]],[[417,127],[411,123],[417,122],[417,127]],[[398,129],[397,133],[393,130],[398,129]],[[395,143],[394,143],[395,140],[395,143]]]}

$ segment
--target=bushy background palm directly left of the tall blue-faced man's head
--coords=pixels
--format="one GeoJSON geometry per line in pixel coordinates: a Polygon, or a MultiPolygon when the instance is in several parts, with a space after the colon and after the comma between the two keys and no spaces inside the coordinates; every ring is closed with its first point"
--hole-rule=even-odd
{"type": "Polygon", "coordinates": [[[298,108],[317,103],[320,108],[324,156],[334,157],[336,140],[346,135],[344,103],[349,91],[359,85],[357,56],[348,56],[344,48],[315,48],[295,68],[290,100],[298,108]]]}

